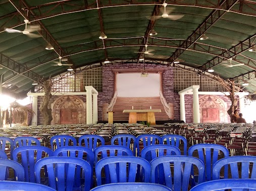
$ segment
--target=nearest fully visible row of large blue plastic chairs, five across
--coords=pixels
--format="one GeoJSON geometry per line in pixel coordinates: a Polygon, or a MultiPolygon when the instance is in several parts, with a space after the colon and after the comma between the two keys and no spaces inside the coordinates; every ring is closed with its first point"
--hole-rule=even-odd
{"type": "MultiPolygon", "coordinates": [[[[221,169],[227,165],[231,168],[232,178],[255,179],[255,163],[255,156],[222,158],[213,165],[212,179],[219,179],[221,169]],[[239,163],[241,163],[240,173],[239,163]],[[252,163],[252,169],[249,167],[250,163],[252,163]]],[[[41,168],[44,166],[47,169],[45,171],[47,173],[44,174],[47,175],[43,178],[47,178],[48,185],[54,189],[68,191],[75,187],[80,190],[81,186],[84,186],[85,190],[89,190],[92,187],[92,167],[81,158],[53,156],[38,160],[34,165],[37,183],[41,183],[41,168]]],[[[0,159],[1,180],[6,179],[7,167],[15,170],[16,180],[24,180],[24,168],[21,164],[8,159],[0,159]]],[[[33,166],[29,166],[29,168],[33,168],[33,166]]],[[[200,159],[191,156],[160,156],[152,159],[150,163],[135,156],[113,156],[103,158],[96,163],[95,175],[97,185],[139,181],[167,185],[174,191],[178,191],[187,190],[189,184],[193,187],[198,183],[207,181],[204,168],[204,163],[200,159]],[[197,168],[196,174],[192,170],[193,167],[197,168]],[[105,170],[105,177],[102,176],[103,169],[105,170]]],[[[32,174],[30,173],[30,175],[32,174]]],[[[224,177],[228,178],[228,174],[224,174],[224,177]]]]}

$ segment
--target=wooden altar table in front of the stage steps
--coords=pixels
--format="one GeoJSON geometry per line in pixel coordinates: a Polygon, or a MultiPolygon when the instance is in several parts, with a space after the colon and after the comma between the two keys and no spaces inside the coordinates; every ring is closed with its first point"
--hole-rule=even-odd
{"type": "Polygon", "coordinates": [[[147,121],[150,125],[156,125],[155,113],[161,110],[124,110],[123,113],[129,113],[129,123],[137,121],[147,121]]]}

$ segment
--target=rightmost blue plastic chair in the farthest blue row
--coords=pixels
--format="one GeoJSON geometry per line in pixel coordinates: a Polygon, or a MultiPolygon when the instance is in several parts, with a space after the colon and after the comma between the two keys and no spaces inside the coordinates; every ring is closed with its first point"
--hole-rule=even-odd
{"type": "Polygon", "coordinates": [[[161,143],[178,147],[180,150],[183,144],[183,155],[187,155],[187,139],[181,135],[164,135],[161,143]]]}

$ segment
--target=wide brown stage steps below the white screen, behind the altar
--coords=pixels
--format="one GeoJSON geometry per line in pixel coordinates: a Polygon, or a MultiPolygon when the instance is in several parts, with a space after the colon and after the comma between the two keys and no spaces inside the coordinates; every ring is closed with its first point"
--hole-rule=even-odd
{"type": "Polygon", "coordinates": [[[161,103],[160,97],[149,98],[123,98],[117,97],[113,107],[114,121],[125,121],[129,119],[129,113],[123,113],[124,110],[161,110],[161,113],[155,113],[156,120],[169,120],[165,108],[161,103]]]}

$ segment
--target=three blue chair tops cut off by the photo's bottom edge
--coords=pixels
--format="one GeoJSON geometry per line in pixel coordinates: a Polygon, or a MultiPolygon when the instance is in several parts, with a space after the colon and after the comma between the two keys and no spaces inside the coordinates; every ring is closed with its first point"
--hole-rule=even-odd
{"type": "MultiPolygon", "coordinates": [[[[13,182],[0,181],[0,190],[6,189],[9,191],[30,191],[33,189],[40,189],[41,191],[54,191],[55,189],[37,183],[30,182],[13,182]]],[[[158,190],[158,191],[172,191],[167,186],[155,183],[141,183],[141,182],[122,182],[110,183],[101,186],[96,186],[91,191],[112,191],[121,189],[122,191],[134,191],[139,188],[140,191],[158,190]]],[[[217,191],[231,189],[232,191],[256,190],[256,180],[254,179],[221,179],[200,183],[194,186],[190,191],[217,191]]]]}

